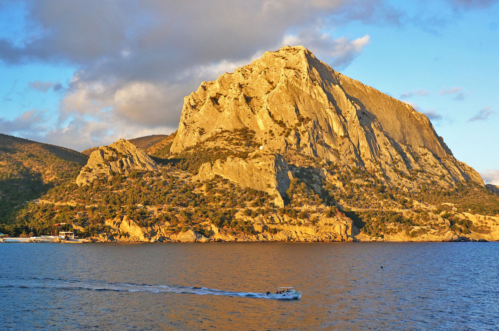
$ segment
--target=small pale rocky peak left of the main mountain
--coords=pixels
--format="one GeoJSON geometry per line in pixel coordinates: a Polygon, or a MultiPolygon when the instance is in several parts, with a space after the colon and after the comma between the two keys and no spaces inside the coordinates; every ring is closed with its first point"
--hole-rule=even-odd
{"type": "Polygon", "coordinates": [[[90,154],[76,184],[86,185],[99,175],[125,173],[129,170],[156,170],[156,163],[142,150],[127,140],[120,139],[109,146],[101,146],[90,154]]]}

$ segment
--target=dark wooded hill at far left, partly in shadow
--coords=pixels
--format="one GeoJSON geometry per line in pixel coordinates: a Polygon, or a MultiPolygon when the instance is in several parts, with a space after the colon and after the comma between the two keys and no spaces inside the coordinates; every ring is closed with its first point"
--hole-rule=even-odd
{"type": "Polygon", "coordinates": [[[24,201],[75,177],[87,159],[64,147],[0,134],[0,223],[24,201]]]}

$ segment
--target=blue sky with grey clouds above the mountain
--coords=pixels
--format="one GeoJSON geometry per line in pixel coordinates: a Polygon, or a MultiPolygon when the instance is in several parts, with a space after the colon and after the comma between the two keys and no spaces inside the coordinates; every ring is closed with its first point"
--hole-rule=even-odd
{"type": "Polygon", "coordinates": [[[494,0],[0,0],[0,133],[78,151],[170,134],[202,81],[284,45],[425,113],[499,185],[494,0]]]}

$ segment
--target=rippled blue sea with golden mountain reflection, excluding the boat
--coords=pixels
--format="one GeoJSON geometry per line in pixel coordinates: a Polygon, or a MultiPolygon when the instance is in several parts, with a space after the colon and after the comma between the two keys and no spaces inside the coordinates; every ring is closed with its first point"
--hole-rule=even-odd
{"type": "Polygon", "coordinates": [[[0,329],[499,330],[498,258],[498,242],[5,243],[0,329]],[[301,300],[267,299],[278,286],[301,300]]]}

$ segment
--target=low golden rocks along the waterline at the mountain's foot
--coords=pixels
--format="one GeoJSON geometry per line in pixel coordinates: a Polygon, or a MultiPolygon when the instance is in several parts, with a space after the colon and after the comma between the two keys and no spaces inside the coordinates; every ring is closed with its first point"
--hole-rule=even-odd
{"type": "Polygon", "coordinates": [[[285,215],[271,215],[267,219],[260,216],[245,217],[253,223],[254,234],[230,233],[227,229],[209,224],[209,235],[201,234],[193,229],[170,233],[169,224],[154,224],[141,227],[137,222],[124,216],[107,220],[106,225],[114,235],[99,234],[91,237],[94,242],[487,242],[496,241],[494,233],[458,234],[455,231],[445,233],[424,233],[410,237],[404,233],[371,237],[359,230],[346,217],[319,218],[315,226],[288,225],[285,215]],[[280,223],[277,223],[279,220],[280,223]],[[277,223],[277,224],[275,224],[277,223]]]}

